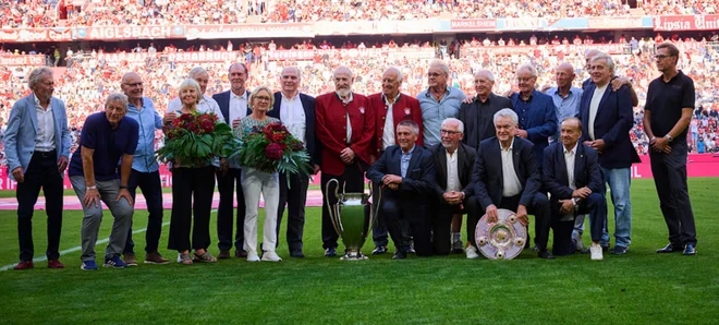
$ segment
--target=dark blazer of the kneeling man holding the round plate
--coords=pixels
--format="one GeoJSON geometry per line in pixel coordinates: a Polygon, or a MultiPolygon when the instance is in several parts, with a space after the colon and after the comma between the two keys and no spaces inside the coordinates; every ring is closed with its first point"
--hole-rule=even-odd
{"type": "MultiPolygon", "coordinates": [[[[532,142],[519,136],[514,137],[512,161],[516,178],[523,185],[520,204],[524,206],[532,204],[534,195],[541,186],[541,176],[533,147],[532,142]]],[[[499,205],[502,201],[504,173],[502,172],[502,153],[497,136],[479,143],[472,181],[474,182],[474,194],[483,210],[486,210],[487,206],[491,204],[499,205]]]]}

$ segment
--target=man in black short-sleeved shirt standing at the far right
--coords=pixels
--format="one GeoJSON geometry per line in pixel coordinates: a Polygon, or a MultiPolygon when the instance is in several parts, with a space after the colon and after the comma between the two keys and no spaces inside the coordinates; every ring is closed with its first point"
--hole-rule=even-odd
{"type": "Polygon", "coordinates": [[[696,230],[686,185],[686,129],[694,112],[694,81],[677,70],[674,45],[660,44],[654,58],[662,75],[649,84],[644,131],[650,139],[651,173],[669,228],[669,244],[657,253],[683,250],[684,255],[695,255],[696,230]]]}

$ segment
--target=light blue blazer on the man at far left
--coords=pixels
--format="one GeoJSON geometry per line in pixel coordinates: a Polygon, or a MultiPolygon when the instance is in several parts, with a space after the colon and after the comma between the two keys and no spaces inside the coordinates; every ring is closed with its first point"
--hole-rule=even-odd
{"type": "MultiPolygon", "coordinates": [[[[54,120],[54,149],[60,157],[70,157],[70,131],[68,130],[68,115],[65,104],[58,98],[50,98],[52,117],[54,120]]],[[[5,157],[8,158],[8,173],[14,180],[12,170],[22,167],[27,171],[29,160],[35,153],[35,139],[37,137],[37,111],[35,110],[35,95],[29,95],[15,103],[10,110],[8,129],[4,133],[5,157]]],[[[64,178],[64,172],[62,173],[64,178]]]]}

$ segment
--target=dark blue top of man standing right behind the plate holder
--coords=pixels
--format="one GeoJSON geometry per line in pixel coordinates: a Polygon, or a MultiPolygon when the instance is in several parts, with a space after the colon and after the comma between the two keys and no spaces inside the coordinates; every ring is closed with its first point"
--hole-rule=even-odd
{"type": "MultiPolygon", "coordinates": [[[[520,96],[520,93],[514,93],[510,100],[512,100],[514,112],[522,119],[522,112],[517,108],[520,96]]],[[[551,96],[535,89],[532,93],[528,118],[522,129],[527,131],[528,140],[534,144],[534,156],[539,168],[541,168],[544,151],[549,146],[549,136],[557,134],[558,125],[557,107],[551,96]]]]}

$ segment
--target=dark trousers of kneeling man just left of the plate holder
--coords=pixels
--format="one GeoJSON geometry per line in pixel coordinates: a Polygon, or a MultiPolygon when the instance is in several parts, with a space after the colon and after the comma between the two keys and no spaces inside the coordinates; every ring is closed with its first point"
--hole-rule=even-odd
{"type": "MultiPolygon", "coordinates": [[[[459,205],[449,205],[443,198],[437,203],[438,210],[431,218],[432,245],[435,254],[449,255],[452,249],[452,218],[455,214],[467,214],[467,242],[474,244],[474,230],[482,215],[479,203],[474,196],[464,197],[462,207],[459,205]]],[[[476,246],[476,245],[475,245],[476,246]]]]}

